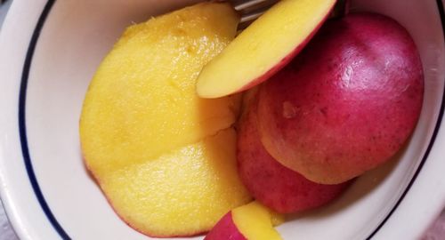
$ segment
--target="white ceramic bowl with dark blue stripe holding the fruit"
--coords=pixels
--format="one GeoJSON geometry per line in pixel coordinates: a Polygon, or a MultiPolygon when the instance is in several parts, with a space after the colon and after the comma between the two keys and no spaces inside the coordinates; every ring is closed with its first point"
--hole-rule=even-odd
{"type": "MultiPolygon", "coordinates": [[[[147,238],[117,217],[85,172],[79,113],[95,68],[125,26],[191,2],[12,3],[0,36],[0,182],[21,239],[147,238]]],[[[445,203],[443,3],[357,0],[352,9],[389,15],[414,37],[425,70],[422,116],[400,155],[334,204],[279,226],[285,239],[415,239],[445,203]]]]}

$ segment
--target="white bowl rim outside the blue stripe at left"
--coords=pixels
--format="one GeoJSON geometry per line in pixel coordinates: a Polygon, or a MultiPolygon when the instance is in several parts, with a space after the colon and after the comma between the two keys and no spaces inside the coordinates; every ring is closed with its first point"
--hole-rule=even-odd
{"type": "Polygon", "coordinates": [[[0,109],[4,112],[0,118],[0,192],[6,212],[20,239],[58,239],[36,202],[23,164],[17,133],[17,94],[21,69],[44,2],[14,1],[0,33],[0,109]]]}

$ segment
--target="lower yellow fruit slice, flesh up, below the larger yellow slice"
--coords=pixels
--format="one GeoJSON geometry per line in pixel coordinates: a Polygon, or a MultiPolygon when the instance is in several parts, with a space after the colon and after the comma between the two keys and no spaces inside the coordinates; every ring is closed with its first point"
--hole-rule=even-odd
{"type": "Polygon", "coordinates": [[[109,203],[133,228],[149,236],[196,235],[251,200],[239,180],[235,141],[233,129],[223,130],[97,178],[109,203]]]}

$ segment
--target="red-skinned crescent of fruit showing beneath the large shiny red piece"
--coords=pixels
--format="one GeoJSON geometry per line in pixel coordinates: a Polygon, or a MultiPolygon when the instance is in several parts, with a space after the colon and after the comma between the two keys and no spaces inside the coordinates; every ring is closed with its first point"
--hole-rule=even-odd
{"type": "Polygon", "coordinates": [[[237,159],[240,179],[257,201],[279,213],[300,212],[328,204],[350,181],[323,185],[279,164],[263,148],[256,128],[255,97],[239,122],[237,159]]]}

